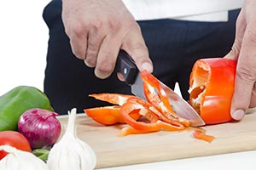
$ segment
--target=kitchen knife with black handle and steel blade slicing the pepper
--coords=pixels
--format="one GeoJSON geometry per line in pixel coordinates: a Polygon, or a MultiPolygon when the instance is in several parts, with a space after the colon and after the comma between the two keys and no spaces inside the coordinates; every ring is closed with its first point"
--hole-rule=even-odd
{"type": "MultiPolygon", "coordinates": [[[[143,93],[143,80],[140,77],[140,72],[137,65],[124,50],[119,51],[117,58],[117,71],[125,78],[125,83],[131,86],[131,93],[137,97],[146,99],[143,93]]],[[[168,88],[163,82],[160,82],[162,88],[165,90],[166,95],[172,105],[172,110],[176,112],[177,116],[189,120],[192,127],[199,127],[205,125],[201,116],[195,109],[189,105],[182,97],[176,94],[171,88],[168,88]]]]}

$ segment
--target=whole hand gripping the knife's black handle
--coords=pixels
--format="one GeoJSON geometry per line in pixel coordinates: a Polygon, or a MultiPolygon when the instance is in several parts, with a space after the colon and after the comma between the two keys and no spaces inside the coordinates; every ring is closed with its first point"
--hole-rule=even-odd
{"type": "Polygon", "coordinates": [[[62,0],[62,20],[73,54],[96,77],[110,76],[120,48],[140,71],[153,71],[140,26],[121,0],[62,0]]]}

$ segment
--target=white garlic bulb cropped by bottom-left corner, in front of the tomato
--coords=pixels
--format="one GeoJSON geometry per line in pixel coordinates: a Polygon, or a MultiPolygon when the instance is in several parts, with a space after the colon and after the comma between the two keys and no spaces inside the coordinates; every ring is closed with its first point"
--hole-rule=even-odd
{"type": "Polygon", "coordinates": [[[0,161],[1,170],[49,170],[46,163],[32,153],[1,145],[0,150],[9,154],[0,161]]]}

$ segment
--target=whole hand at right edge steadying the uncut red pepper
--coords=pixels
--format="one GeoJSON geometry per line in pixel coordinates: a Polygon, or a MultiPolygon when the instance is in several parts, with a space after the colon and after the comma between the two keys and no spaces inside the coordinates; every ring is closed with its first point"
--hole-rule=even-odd
{"type": "Polygon", "coordinates": [[[236,39],[230,54],[237,60],[231,116],[241,120],[248,108],[256,106],[256,1],[245,0],[236,20],[236,39]]]}

